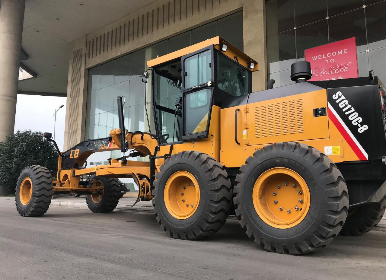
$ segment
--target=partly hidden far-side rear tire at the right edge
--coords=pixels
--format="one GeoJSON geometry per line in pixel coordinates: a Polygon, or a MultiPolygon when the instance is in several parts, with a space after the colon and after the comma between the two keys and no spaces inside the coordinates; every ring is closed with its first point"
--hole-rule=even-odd
{"type": "Polygon", "coordinates": [[[386,208],[386,196],[378,203],[366,204],[349,211],[340,235],[358,236],[371,231],[381,221],[386,208]]]}

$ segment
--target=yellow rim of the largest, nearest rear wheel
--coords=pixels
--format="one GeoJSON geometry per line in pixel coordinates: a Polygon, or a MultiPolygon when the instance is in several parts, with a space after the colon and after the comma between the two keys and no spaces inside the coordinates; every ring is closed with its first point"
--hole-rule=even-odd
{"type": "Polygon", "coordinates": [[[257,214],[274,228],[296,226],[310,208],[310,190],[305,180],[285,167],[263,172],[256,180],[252,195],[257,214]]]}

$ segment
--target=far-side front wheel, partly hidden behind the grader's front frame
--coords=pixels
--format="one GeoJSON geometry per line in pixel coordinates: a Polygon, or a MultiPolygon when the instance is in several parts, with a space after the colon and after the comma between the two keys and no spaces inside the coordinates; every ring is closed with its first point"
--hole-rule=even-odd
{"type": "MultiPolygon", "coordinates": [[[[93,213],[110,213],[117,207],[120,196],[120,186],[118,179],[93,176],[91,179],[97,180],[103,185],[103,195],[88,194],[86,203],[93,213]]],[[[91,182],[91,181],[90,181],[91,182]]]]}

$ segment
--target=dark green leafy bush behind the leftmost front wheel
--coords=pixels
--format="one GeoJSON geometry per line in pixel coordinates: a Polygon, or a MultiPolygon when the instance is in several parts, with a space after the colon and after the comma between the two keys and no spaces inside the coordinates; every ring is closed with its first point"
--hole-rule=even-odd
{"type": "Polygon", "coordinates": [[[10,193],[15,192],[24,167],[35,164],[47,167],[56,177],[58,152],[41,132],[18,130],[0,142],[0,185],[8,187],[10,193]]]}

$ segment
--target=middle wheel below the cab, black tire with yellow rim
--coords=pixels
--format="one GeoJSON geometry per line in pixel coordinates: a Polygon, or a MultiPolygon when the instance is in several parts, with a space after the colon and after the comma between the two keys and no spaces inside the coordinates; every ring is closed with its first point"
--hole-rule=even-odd
{"type": "Polygon", "coordinates": [[[173,238],[183,240],[199,240],[216,233],[225,223],[232,205],[232,189],[227,177],[222,165],[205,153],[186,151],[166,159],[156,175],[152,191],[154,214],[161,228],[173,238]],[[177,187],[169,192],[172,186],[169,179],[179,174],[185,175],[181,175],[180,181],[176,179],[177,187]],[[186,183],[188,177],[198,184],[193,184],[195,189],[186,183]],[[185,198],[192,203],[186,208],[185,204],[178,204],[183,199],[185,203],[185,198]]]}

